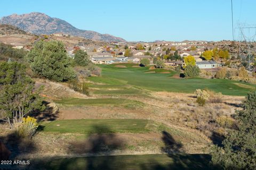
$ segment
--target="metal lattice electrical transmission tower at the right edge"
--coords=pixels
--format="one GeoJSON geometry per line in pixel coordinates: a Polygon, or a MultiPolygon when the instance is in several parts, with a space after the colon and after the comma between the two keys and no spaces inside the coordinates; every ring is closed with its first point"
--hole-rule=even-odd
{"type": "Polygon", "coordinates": [[[236,41],[239,42],[239,58],[248,62],[247,68],[251,71],[251,62],[256,52],[256,25],[238,24],[235,35],[236,41]]]}

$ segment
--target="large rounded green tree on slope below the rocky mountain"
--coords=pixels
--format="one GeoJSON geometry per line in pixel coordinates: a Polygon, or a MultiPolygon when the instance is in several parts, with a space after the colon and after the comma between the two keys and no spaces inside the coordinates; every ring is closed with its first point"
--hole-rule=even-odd
{"type": "Polygon", "coordinates": [[[76,77],[61,41],[39,41],[25,59],[35,74],[47,79],[67,81],[76,77]]]}

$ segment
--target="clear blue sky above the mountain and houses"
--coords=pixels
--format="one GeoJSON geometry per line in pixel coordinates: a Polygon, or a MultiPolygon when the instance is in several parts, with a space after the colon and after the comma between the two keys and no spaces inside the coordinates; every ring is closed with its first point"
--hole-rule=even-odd
{"type": "MultiPolygon", "coordinates": [[[[42,12],[128,41],[232,39],[230,0],[6,1],[0,17],[42,12]]],[[[233,0],[234,27],[256,24],[256,1],[233,0]]]]}

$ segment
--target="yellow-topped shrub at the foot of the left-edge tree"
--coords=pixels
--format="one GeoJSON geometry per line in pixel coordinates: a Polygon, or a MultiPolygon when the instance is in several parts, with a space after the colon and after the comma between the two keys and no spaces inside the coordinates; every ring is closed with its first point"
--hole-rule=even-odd
{"type": "Polygon", "coordinates": [[[22,122],[17,125],[17,132],[22,138],[32,138],[37,128],[38,124],[36,123],[36,119],[28,116],[27,118],[23,117],[22,122]]]}

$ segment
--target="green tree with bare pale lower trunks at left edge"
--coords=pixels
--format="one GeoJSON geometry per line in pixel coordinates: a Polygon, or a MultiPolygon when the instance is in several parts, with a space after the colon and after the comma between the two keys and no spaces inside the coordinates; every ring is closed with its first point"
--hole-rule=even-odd
{"type": "Polygon", "coordinates": [[[0,118],[15,128],[34,109],[44,109],[35,82],[26,75],[26,66],[0,62],[0,118]]]}

